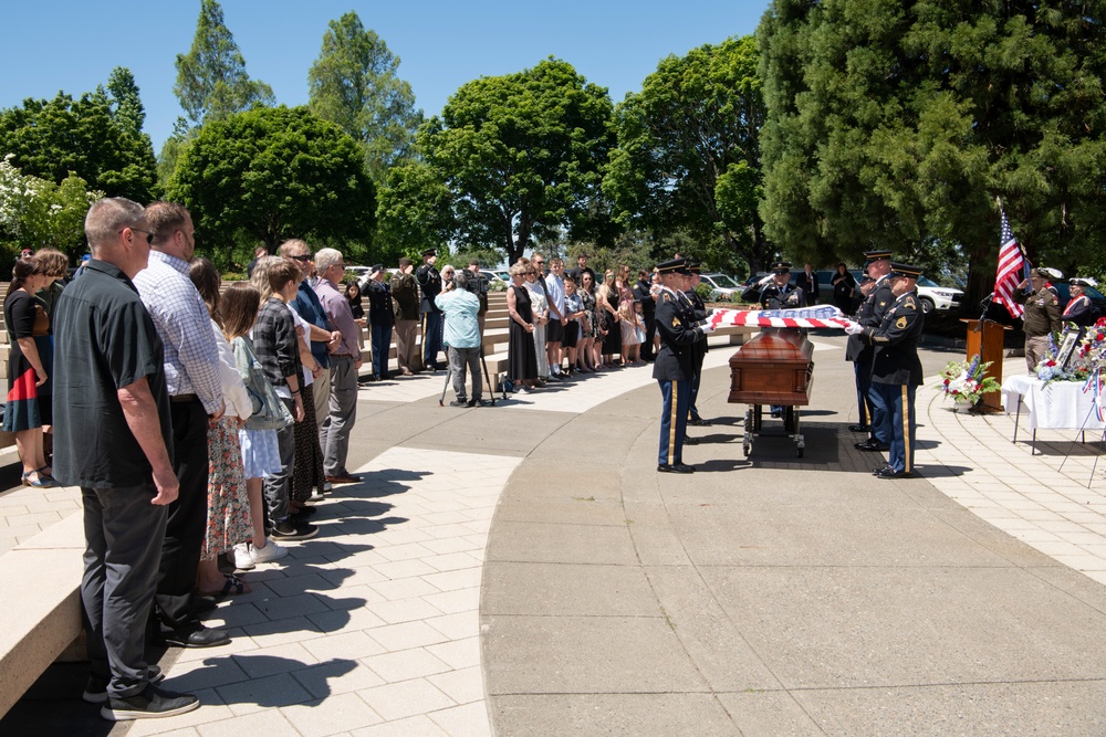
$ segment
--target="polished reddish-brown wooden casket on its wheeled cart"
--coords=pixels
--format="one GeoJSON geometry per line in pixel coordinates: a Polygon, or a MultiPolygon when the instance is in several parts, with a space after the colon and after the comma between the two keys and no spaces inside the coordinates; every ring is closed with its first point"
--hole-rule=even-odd
{"type": "Polygon", "coordinates": [[[806,442],[800,425],[800,407],[811,403],[814,346],[793,328],[765,328],[730,357],[730,393],[727,401],[749,404],[742,450],[752,451],[761,434],[763,406],[783,406],[783,429],[794,439],[799,457],[806,442]]]}

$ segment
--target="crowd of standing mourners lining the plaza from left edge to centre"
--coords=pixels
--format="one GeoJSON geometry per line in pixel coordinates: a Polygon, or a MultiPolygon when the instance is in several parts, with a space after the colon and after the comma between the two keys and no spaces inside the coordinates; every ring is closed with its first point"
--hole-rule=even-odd
{"type": "MultiPolygon", "coordinates": [[[[223,289],[211,262],[196,257],[179,204],[103,199],[85,232],[91,259],[67,285],[60,251],[14,265],[3,429],[15,434],[23,484],[81,488],[84,699],[111,720],[170,716],[198,702],[158,685],[147,645],[228,642],[201,623],[204,612],[249,592],[242,572],[283,558],[282,541],[313,537],[312,503],[333,484],[359,481],[346,459],[362,328],[371,379],[388,378],[393,329],[398,370],[414,375],[435,368],[415,338],[435,312],[452,403],[479,406],[487,281],[476,262],[439,276],[430,255],[418,275],[403,259],[390,284],[378,264],[347,285],[338,251],[312,254],[291,240],[278,255],[259,249],[249,281],[223,289]],[[434,289],[428,275],[440,280],[434,289]]],[[[510,270],[512,383],[532,391],[651,359],[647,272],[635,284],[623,266],[597,285],[586,256],[568,272],[559,259],[547,273],[544,264],[534,254],[510,270]]]]}

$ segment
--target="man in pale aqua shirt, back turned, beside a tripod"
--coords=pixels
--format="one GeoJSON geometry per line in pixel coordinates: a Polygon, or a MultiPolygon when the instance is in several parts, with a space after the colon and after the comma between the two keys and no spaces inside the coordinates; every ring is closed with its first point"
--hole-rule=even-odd
{"type": "Polygon", "coordinates": [[[480,376],[480,312],[481,284],[487,288],[487,280],[473,276],[469,271],[458,272],[447,291],[434,298],[446,317],[445,344],[449,346],[449,372],[453,379],[457,399],[450,407],[480,407],[483,381],[480,376]],[[472,398],[467,399],[465,379],[472,372],[472,398]]]}

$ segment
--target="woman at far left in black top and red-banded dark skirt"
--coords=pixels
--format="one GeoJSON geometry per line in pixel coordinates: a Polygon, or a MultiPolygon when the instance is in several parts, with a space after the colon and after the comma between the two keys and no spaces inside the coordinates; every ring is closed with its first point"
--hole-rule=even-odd
{"type": "Polygon", "coordinates": [[[52,468],[42,448],[42,425],[50,424],[50,318],[34,293],[46,285],[45,266],[34,256],[20,259],[12,269],[3,303],[8,326],[8,403],[3,429],[15,433],[23,462],[23,484],[54,486],[52,468]]]}

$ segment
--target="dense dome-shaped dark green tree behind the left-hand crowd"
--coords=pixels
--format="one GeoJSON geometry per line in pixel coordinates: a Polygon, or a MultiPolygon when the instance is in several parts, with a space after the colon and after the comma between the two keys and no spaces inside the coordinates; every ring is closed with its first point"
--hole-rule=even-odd
{"type": "MultiPolygon", "coordinates": [[[[306,107],[259,108],[208,123],[180,157],[167,197],[210,243],[248,252],[289,238],[372,242],[376,193],[356,143],[306,107]]],[[[236,255],[211,252],[220,267],[236,255]]]]}

